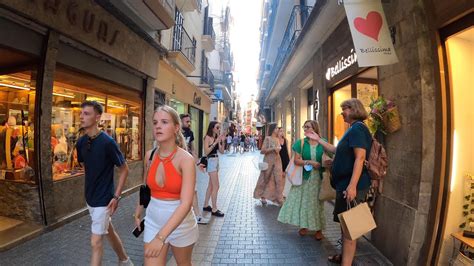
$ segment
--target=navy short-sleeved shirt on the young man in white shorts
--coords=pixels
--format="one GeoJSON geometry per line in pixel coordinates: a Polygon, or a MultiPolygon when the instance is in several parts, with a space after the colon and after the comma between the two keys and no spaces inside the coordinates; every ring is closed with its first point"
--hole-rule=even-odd
{"type": "Polygon", "coordinates": [[[86,173],[85,196],[91,207],[107,206],[114,195],[114,166],[122,166],[125,159],[117,143],[104,132],[90,140],[84,135],[77,141],[77,160],[84,164],[86,173]]]}

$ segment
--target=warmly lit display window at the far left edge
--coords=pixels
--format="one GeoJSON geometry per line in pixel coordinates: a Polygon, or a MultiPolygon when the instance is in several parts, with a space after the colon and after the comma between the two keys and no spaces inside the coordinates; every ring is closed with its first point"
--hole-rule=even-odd
{"type": "Polygon", "coordinates": [[[0,75],[0,179],[35,183],[36,71],[0,75]]]}

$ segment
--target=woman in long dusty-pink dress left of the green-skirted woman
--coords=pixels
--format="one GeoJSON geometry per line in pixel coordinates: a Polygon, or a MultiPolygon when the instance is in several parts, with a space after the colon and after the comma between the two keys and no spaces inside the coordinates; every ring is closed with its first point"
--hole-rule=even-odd
{"type": "Polygon", "coordinates": [[[280,150],[278,128],[275,123],[270,123],[267,136],[263,141],[260,151],[261,154],[264,154],[263,161],[268,164],[268,168],[260,172],[255,191],[253,192],[253,197],[260,199],[263,205],[267,203],[267,199],[280,205],[283,203],[283,187],[285,183],[282,176],[280,150]]]}

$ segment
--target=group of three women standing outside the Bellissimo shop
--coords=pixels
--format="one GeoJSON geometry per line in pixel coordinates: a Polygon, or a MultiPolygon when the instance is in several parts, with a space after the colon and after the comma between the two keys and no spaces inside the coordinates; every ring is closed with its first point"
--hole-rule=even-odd
{"type": "MultiPolygon", "coordinates": [[[[289,156],[287,141],[281,128],[268,124],[261,153],[268,165],[258,178],[254,198],[262,206],[270,200],[281,206],[277,220],[299,228],[298,234],[312,234],[315,240],[324,238],[324,202],[319,200],[325,167],[330,168],[331,186],[336,190],[333,211],[334,222],[338,215],[364,202],[371,184],[364,162],[368,159],[372,136],[363,121],[368,114],[358,99],[349,99],[341,104],[344,122],[350,125],[337,147],[321,137],[317,121],[307,120],[303,124],[304,138],[295,141],[291,147],[294,164],[302,167],[302,184],[292,186],[285,180],[289,156]],[[323,162],[323,154],[328,154],[323,162]]],[[[341,228],[342,253],[328,257],[336,264],[351,265],[356,251],[356,240],[341,228]]]]}

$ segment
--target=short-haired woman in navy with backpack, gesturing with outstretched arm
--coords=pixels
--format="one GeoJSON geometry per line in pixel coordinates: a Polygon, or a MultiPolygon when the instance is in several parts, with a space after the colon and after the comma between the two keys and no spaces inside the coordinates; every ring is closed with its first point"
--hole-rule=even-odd
{"type": "MultiPolygon", "coordinates": [[[[361,203],[370,187],[370,176],[364,161],[368,159],[372,146],[372,136],[363,123],[368,114],[362,102],[352,98],[341,103],[344,122],[350,125],[337,148],[319,137],[318,132],[308,132],[305,135],[317,141],[330,153],[336,153],[332,162],[331,185],[336,189],[336,204],[334,205],[334,221],[339,222],[338,214],[354,206],[354,201],[361,203]]],[[[350,240],[342,231],[342,254],[330,256],[328,260],[342,265],[351,265],[356,251],[356,240],[350,240]]]]}

